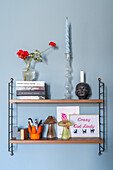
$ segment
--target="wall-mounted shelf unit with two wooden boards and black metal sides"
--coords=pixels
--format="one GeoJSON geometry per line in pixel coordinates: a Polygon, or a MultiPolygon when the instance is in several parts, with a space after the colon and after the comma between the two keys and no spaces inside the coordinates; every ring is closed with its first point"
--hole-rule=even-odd
{"type": "Polygon", "coordinates": [[[105,150],[105,109],[104,109],[104,83],[99,78],[99,99],[89,99],[89,100],[75,100],[75,99],[14,99],[13,98],[13,79],[8,84],[8,151],[13,155],[13,144],[76,144],[76,143],[93,143],[99,144],[99,155],[105,150]],[[14,104],[98,104],[99,107],[99,128],[100,137],[99,138],[71,138],[69,140],[61,140],[58,138],[48,140],[47,138],[41,138],[40,140],[16,140],[13,139],[13,105],[14,104]]]}

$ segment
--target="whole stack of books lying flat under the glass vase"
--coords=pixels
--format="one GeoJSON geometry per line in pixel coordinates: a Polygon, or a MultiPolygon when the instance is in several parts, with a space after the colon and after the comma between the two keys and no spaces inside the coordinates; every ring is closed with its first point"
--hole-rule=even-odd
{"type": "Polygon", "coordinates": [[[45,81],[16,81],[16,99],[45,99],[45,81]]]}

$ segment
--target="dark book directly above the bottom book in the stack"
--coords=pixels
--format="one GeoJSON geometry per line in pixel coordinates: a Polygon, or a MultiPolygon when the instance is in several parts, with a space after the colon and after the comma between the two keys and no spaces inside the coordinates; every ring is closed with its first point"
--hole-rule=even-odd
{"type": "Polygon", "coordinates": [[[40,91],[40,90],[16,90],[16,96],[45,96],[45,91],[40,91]]]}

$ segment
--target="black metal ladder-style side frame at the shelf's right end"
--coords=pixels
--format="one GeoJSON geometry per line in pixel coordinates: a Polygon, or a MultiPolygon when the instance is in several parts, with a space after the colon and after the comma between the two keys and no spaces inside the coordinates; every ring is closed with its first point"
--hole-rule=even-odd
{"type": "Polygon", "coordinates": [[[99,103],[99,129],[100,129],[100,138],[103,139],[103,143],[99,143],[99,155],[105,151],[105,104],[104,104],[104,83],[99,81],[99,99],[103,99],[103,103],[99,103]]]}

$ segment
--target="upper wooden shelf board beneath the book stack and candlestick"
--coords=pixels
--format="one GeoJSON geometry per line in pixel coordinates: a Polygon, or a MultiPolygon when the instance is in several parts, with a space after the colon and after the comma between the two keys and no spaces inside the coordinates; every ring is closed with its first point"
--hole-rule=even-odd
{"type": "Polygon", "coordinates": [[[103,99],[89,99],[89,100],[77,100],[77,99],[11,99],[10,103],[103,103],[103,99]]]}

